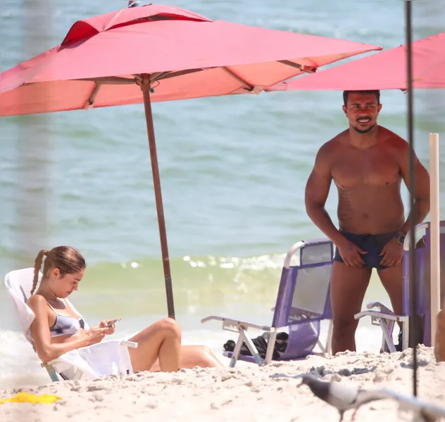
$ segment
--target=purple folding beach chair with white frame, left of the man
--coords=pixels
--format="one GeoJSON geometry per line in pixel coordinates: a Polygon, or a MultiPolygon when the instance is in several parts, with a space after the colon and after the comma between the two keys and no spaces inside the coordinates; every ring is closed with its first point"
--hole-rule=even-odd
{"type": "Polygon", "coordinates": [[[223,329],[238,333],[233,352],[224,352],[230,357],[230,366],[238,360],[255,362],[262,366],[272,361],[277,332],[288,328],[289,338],[284,352],[274,360],[288,361],[304,359],[309,354],[317,354],[314,348],[318,345],[321,354],[330,354],[332,339],[332,309],[330,303],[330,276],[334,257],[334,245],[326,239],[300,241],[287,252],[282,269],[277,301],[272,324],[261,326],[224,316],[207,316],[201,320],[223,322],[223,329]],[[296,264],[291,264],[296,258],[296,264]],[[320,341],[320,323],[330,320],[325,345],[320,341]],[[267,351],[261,357],[257,347],[248,337],[248,328],[256,328],[267,333],[267,351]],[[251,355],[242,354],[243,343],[251,355]]]}

